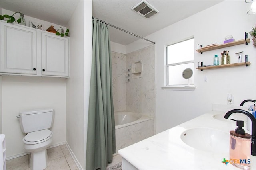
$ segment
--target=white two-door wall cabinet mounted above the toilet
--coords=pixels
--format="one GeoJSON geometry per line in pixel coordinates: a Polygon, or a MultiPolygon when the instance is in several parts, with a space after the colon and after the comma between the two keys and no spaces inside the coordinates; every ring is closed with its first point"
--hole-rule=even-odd
{"type": "Polygon", "coordinates": [[[69,37],[1,21],[1,74],[69,77],[69,37]]]}

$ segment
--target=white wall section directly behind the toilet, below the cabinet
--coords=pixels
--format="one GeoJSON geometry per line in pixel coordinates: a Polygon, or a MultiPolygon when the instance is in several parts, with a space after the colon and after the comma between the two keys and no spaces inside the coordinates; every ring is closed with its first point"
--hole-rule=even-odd
{"type": "Polygon", "coordinates": [[[7,158],[26,153],[20,129],[20,111],[54,108],[52,144],[66,141],[66,80],[35,76],[2,76],[2,133],[6,135],[7,158]]]}

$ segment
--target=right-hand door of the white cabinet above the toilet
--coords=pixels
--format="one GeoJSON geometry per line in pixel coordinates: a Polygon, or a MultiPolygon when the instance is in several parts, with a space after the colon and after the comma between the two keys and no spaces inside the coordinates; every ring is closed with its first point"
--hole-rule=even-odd
{"type": "Polygon", "coordinates": [[[69,76],[69,38],[42,33],[42,75],[69,76]]]}

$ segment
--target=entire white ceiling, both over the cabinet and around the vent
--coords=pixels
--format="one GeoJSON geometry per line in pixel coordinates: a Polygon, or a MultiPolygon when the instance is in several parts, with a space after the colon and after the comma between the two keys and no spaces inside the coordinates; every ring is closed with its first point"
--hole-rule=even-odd
{"type": "MultiPolygon", "coordinates": [[[[131,8],[140,0],[93,0],[92,16],[131,33],[145,37],[168,25],[183,20],[222,0],[148,0],[160,12],[151,18],[144,18],[131,8]]],[[[77,0],[1,0],[1,8],[19,11],[25,15],[66,26],[78,5],[77,0]]],[[[200,20],[200,18],[198,18],[200,20]]],[[[188,25],[192,27],[193,25],[188,25]]],[[[113,42],[127,45],[136,40],[128,33],[109,27],[113,42]]],[[[151,39],[154,41],[154,39],[151,39]]]]}

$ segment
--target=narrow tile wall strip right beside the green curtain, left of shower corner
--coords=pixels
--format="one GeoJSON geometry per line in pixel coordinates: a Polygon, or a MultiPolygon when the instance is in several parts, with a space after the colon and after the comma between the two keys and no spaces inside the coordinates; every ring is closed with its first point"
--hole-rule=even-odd
{"type": "Polygon", "coordinates": [[[126,110],[126,56],[111,52],[114,111],[126,110]]]}

